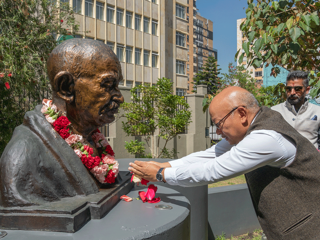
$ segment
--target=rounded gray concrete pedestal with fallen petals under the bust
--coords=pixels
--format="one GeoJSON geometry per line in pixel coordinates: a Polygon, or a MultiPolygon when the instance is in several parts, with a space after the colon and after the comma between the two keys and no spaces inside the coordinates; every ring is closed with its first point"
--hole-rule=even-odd
{"type": "MultiPolygon", "coordinates": [[[[156,184],[155,184],[156,185],[156,184]]],[[[190,204],[179,192],[156,185],[156,204],[143,203],[140,199],[131,202],[121,200],[108,214],[98,220],[90,220],[75,233],[5,230],[7,235],[1,240],[188,240],[190,239],[190,204]],[[156,209],[158,204],[172,206],[169,210],[156,209]]],[[[137,198],[139,191],[147,191],[147,186],[135,186],[127,196],[137,198]]]]}

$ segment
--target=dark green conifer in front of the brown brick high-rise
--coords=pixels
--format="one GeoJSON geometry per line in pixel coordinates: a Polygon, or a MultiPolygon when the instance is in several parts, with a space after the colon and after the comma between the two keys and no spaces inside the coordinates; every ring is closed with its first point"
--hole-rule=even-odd
{"type": "Polygon", "coordinates": [[[220,85],[220,80],[218,74],[220,74],[221,68],[217,65],[217,60],[214,57],[208,57],[204,67],[202,67],[201,71],[197,73],[197,75],[192,79],[193,84],[195,85],[207,85],[208,93],[215,93],[220,85]]]}

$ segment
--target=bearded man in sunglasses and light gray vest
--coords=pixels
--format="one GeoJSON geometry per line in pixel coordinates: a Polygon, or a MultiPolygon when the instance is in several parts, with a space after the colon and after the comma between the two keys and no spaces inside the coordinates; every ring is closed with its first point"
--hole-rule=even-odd
{"type": "Polygon", "coordinates": [[[271,109],[281,113],[292,127],[320,150],[320,107],[306,98],[310,90],[308,73],[290,72],[284,89],[287,100],[271,109]]]}

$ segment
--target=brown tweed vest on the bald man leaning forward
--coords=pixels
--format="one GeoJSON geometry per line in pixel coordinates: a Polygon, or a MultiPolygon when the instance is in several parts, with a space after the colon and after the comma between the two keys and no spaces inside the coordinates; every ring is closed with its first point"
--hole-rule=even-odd
{"type": "Polygon", "coordinates": [[[263,231],[268,240],[320,239],[320,153],[268,107],[260,108],[247,135],[261,129],[286,135],[297,145],[289,166],[264,166],[245,174],[263,231]]]}

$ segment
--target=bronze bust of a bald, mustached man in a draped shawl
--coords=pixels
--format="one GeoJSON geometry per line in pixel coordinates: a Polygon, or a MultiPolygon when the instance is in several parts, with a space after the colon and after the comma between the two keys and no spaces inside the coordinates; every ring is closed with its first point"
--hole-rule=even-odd
{"type": "MultiPolygon", "coordinates": [[[[115,53],[96,40],[70,39],[53,49],[47,70],[52,105],[68,119],[68,129],[80,136],[86,149],[92,149],[92,158],[98,156],[92,133],[113,122],[124,101],[115,53]]],[[[99,192],[99,182],[47,121],[42,108],[38,105],[25,114],[1,156],[2,207],[42,205],[99,192]]]]}

